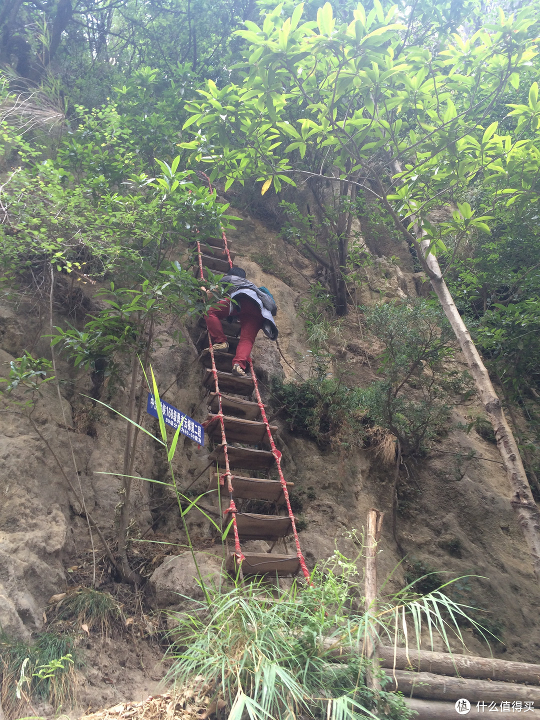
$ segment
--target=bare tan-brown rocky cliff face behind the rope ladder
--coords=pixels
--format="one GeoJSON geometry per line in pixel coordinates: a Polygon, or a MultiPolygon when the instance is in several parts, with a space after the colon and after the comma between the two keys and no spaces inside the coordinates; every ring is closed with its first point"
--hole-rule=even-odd
{"type": "MultiPolygon", "coordinates": [[[[297,311],[317,269],[294,248],[284,246],[261,222],[249,217],[238,223],[230,239],[235,243],[235,262],[246,268],[253,282],[271,290],[279,307],[279,347],[265,337],[256,341],[253,357],[259,376],[265,384],[274,374],[287,379],[307,377],[310,359],[304,323],[297,311]]],[[[373,252],[377,248],[371,249],[373,252]]],[[[374,257],[366,271],[359,291],[361,302],[399,299],[422,292],[422,276],[413,273],[410,264],[398,267],[388,259],[388,248],[384,249],[386,256],[374,257]]],[[[404,248],[392,254],[405,254],[404,248]]],[[[0,305],[0,373],[4,377],[9,372],[9,361],[24,349],[45,356],[49,353],[48,341],[39,339],[47,329],[42,327],[36,307],[32,298],[18,305],[0,305]]],[[[61,321],[54,319],[55,324],[61,321]]],[[[177,329],[174,318],[163,318],[153,369],[164,399],[200,420],[205,415],[202,372],[193,344],[199,328],[193,321],[191,337],[181,346],[172,339],[177,329]]],[[[376,377],[372,343],[362,336],[352,315],[331,350],[334,372],[346,372],[351,382],[360,384],[368,384],[376,377]]],[[[53,382],[45,384],[30,420],[27,411],[12,402],[4,403],[0,413],[0,625],[6,634],[21,639],[46,629],[44,611],[52,595],[89,577],[77,573],[83,565],[84,572],[91,572],[92,544],[99,566],[96,583],[113,588],[107,563],[101,560],[102,544],[95,529],[90,536],[84,508],[102,534],[112,538],[120,480],[100,473],[121,472],[125,421],[106,408],[97,408],[92,432],[86,434],[89,426],[81,422],[81,393],[89,392],[89,374],[76,374],[61,359],[57,362],[58,376],[65,379],[60,382],[60,394],[53,382]]],[[[128,387],[129,377],[125,384],[128,387]]],[[[27,398],[19,392],[13,399],[24,402],[27,398]]],[[[125,390],[117,388],[111,402],[120,412],[125,410],[125,390]]],[[[456,407],[456,422],[464,422],[464,414],[469,412],[470,408],[456,407]]],[[[387,513],[379,555],[380,576],[389,575],[402,554],[407,556],[392,575],[390,588],[405,582],[405,570],[409,576],[416,572],[417,577],[434,571],[449,572],[443,579],[481,576],[461,582],[460,599],[488,611],[485,624],[504,643],[496,643],[495,652],[505,653],[508,659],[540,662],[539,593],[526,545],[510,508],[510,490],[495,446],[474,431],[466,434],[451,429],[425,461],[402,467],[400,511],[394,523],[392,464],[382,464],[369,449],[348,454],[320,451],[311,441],[289,433],[279,417],[275,421],[280,426],[277,439],[284,454],[284,472],[302,498],[300,512],[305,529],[300,540],[311,567],[330,556],[336,543],[342,552],[354,557],[358,549],[350,538],[351,530],[361,530],[370,507],[380,508],[387,513]],[[471,450],[476,452],[474,459],[471,450]]],[[[148,417],[144,423],[154,427],[154,420],[148,417]]],[[[208,450],[197,449],[188,439],[179,445],[177,480],[181,487],[187,487],[204,471],[208,450]]],[[[158,446],[148,436],[140,436],[135,470],[141,478],[166,478],[158,446]]],[[[159,486],[145,480],[134,482],[133,536],[181,543],[174,503],[168,503],[159,486]]],[[[203,474],[192,490],[204,490],[206,484],[203,474]]],[[[215,546],[204,516],[192,514],[189,523],[199,548],[219,557],[220,547],[215,546]]],[[[173,546],[171,550],[171,546],[158,546],[156,557],[150,552],[151,562],[140,565],[143,575],[150,577],[165,554],[181,552],[181,547],[173,546]]],[[[148,552],[144,550],[142,555],[146,557],[148,552]]],[[[209,562],[209,572],[214,572],[215,566],[209,562]]],[[[157,597],[148,590],[144,599],[148,606],[175,607],[170,591],[174,592],[175,583],[181,580],[182,567],[180,562],[176,579],[168,573],[167,580],[164,571],[160,575],[158,570],[149,585],[157,597]]],[[[189,575],[188,570],[185,572],[189,575]]],[[[480,615],[478,618],[482,621],[480,615]]],[[[487,653],[472,634],[468,635],[468,643],[472,651],[487,653]]],[[[159,670],[145,673],[139,669],[135,677],[130,661],[123,665],[114,662],[114,648],[110,648],[107,672],[115,680],[112,685],[104,684],[99,673],[107,653],[99,659],[99,654],[92,656],[92,649],[88,652],[91,670],[86,671],[87,682],[99,687],[101,693],[96,696],[94,690],[93,696],[89,695],[94,698],[94,708],[121,699],[122,693],[127,696],[132,692],[138,698],[140,689],[150,690],[160,675],[159,670]]],[[[122,645],[122,652],[130,651],[122,645]]],[[[156,649],[155,661],[158,654],[156,649]]]]}

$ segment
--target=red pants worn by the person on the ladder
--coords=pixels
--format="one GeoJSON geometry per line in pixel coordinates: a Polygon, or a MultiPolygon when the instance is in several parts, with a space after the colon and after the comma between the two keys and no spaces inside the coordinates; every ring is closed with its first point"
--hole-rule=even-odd
{"type": "Polygon", "coordinates": [[[258,331],[261,330],[263,325],[263,315],[261,308],[255,300],[251,300],[251,297],[240,295],[240,297],[235,298],[236,307],[238,307],[237,303],[240,305],[240,310],[233,310],[229,315],[230,300],[221,300],[217,307],[212,307],[212,310],[209,310],[206,317],[206,326],[212,338],[212,343],[225,343],[227,338],[223,333],[221,320],[228,317],[240,320],[240,341],[236,348],[233,365],[238,364],[245,370],[251,348],[258,331]]]}

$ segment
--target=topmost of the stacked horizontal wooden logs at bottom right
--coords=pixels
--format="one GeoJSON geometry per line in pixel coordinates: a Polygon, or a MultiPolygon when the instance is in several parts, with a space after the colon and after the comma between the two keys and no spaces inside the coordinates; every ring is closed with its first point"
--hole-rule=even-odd
{"type": "MultiPolygon", "coordinates": [[[[377,648],[382,667],[394,667],[394,648],[377,648]]],[[[343,657],[343,656],[341,656],[343,657]]],[[[418,670],[436,672],[438,675],[477,678],[477,680],[500,680],[503,683],[528,683],[540,685],[540,665],[512,660],[495,660],[492,657],[474,657],[473,655],[454,655],[429,650],[396,649],[395,667],[397,670],[418,670]]]]}

